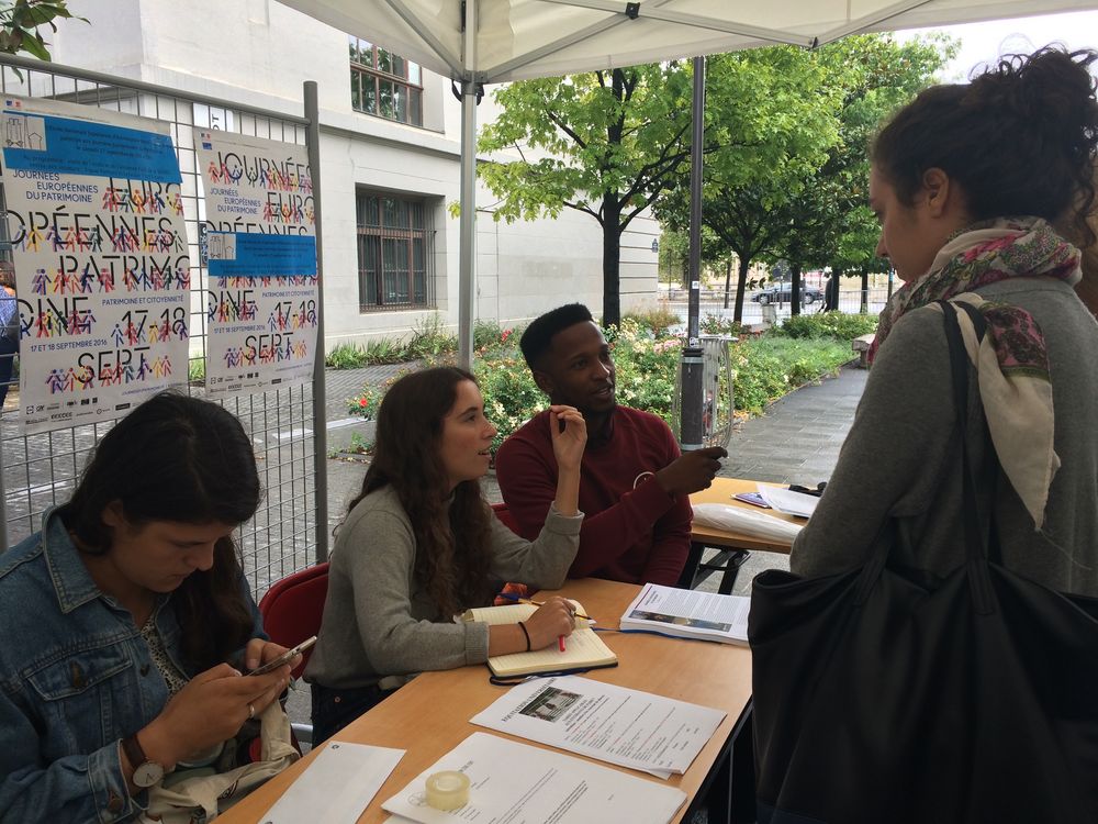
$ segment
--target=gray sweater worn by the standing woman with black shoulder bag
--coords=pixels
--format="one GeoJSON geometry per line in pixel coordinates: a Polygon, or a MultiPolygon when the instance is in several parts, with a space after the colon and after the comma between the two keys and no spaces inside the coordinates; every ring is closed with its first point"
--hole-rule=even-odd
{"type": "MultiPolygon", "coordinates": [[[[1015,278],[978,290],[1022,307],[1045,336],[1062,466],[1045,523],[1034,530],[1005,476],[979,489],[982,522],[997,515],[1005,565],[1056,590],[1098,595],[1098,324],[1069,286],[1015,278]]],[[[976,398],[970,371],[970,410],[976,398]]],[[[794,572],[818,576],[861,565],[886,517],[897,520],[903,565],[945,575],[964,557],[961,453],[953,433],[949,347],[941,313],[912,311],[877,353],[854,424],[816,513],[793,545],[794,572]]],[[[984,458],[983,413],[968,441],[984,458]]],[[[977,464],[978,465],[978,464],[977,464]]]]}

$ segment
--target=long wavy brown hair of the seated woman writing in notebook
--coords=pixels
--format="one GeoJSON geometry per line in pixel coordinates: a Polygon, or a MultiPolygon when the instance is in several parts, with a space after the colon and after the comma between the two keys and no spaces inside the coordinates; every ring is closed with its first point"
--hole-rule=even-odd
{"type": "Polygon", "coordinates": [[[442,466],[442,424],[453,408],[458,385],[472,375],[439,367],[406,375],[385,393],[378,411],[373,459],[362,491],[391,486],[412,522],[415,575],[438,604],[440,615],[488,602],[489,533],[493,517],[480,482],[463,481],[450,497],[442,466]]]}

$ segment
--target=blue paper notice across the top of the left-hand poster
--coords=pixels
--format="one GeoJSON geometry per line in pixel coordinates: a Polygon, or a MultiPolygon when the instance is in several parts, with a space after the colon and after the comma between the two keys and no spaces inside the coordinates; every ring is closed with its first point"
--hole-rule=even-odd
{"type": "Polygon", "coordinates": [[[171,137],[87,120],[12,110],[5,100],[3,156],[9,169],[127,178],[182,179],[171,137]]]}

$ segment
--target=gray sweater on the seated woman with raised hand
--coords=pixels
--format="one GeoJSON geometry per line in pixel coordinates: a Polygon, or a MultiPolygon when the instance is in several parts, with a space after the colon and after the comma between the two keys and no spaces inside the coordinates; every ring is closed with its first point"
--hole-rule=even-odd
{"type": "MultiPolygon", "coordinates": [[[[530,543],[493,516],[490,574],[535,589],[560,587],[582,523],[583,513],[565,517],[552,508],[530,543]]],[[[324,621],[305,680],[390,689],[416,672],[488,660],[488,624],[458,624],[438,614],[415,576],[415,553],[412,523],[392,487],[355,505],[336,535],[324,621]]]]}

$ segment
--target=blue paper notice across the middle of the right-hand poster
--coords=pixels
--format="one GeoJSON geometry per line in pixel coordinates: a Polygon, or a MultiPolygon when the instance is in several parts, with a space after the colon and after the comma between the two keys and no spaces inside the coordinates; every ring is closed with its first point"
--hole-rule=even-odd
{"type": "Polygon", "coordinates": [[[311,235],[210,232],[213,277],[316,277],[316,238],[311,235]]]}

